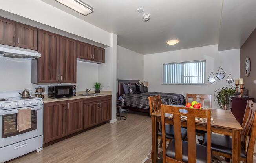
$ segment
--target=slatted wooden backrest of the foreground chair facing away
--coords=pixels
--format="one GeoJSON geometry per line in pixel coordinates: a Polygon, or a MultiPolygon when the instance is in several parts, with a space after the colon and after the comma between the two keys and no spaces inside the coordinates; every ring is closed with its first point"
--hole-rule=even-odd
{"type": "MultiPolygon", "coordinates": [[[[210,109],[192,109],[161,105],[163,159],[166,160],[165,113],[173,114],[175,160],[182,161],[181,116],[187,116],[188,163],[196,163],[196,122],[195,118],[207,118],[207,140],[210,140],[210,109]]],[[[207,163],[211,162],[211,146],[207,141],[207,163]]],[[[164,161],[165,162],[165,161],[164,161]]]]}

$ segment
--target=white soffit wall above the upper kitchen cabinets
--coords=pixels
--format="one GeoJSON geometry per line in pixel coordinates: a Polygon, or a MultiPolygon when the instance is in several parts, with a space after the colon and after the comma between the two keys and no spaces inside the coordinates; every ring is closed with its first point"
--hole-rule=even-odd
{"type": "Polygon", "coordinates": [[[40,0],[0,0],[0,4],[0,9],[4,11],[111,46],[107,31],[40,0]]]}

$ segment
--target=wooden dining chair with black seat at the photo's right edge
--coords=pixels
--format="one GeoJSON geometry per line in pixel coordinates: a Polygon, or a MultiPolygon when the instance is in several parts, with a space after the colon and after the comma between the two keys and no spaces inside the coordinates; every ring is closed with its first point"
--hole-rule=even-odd
{"type": "MultiPolygon", "coordinates": [[[[251,100],[247,101],[245,115],[243,118],[243,131],[241,132],[241,158],[240,161],[252,163],[253,151],[256,138],[256,118],[255,118],[256,103],[251,100]],[[248,145],[247,138],[249,133],[248,145]],[[246,149],[247,147],[247,149],[246,149]]],[[[207,137],[203,140],[203,145],[207,145],[207,137]]],[[[224,156],[225,158],[232,159],[232,138],[218,134],[211,134],[211,148],[214,155],[224,156]]]]}

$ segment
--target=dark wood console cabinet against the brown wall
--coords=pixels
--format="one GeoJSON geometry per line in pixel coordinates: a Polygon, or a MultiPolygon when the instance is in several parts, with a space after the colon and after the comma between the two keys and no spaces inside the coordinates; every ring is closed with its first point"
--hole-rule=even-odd
{"type": "Polygon", "coordinates": [[[228,96],[229,98],[229,105],[227,109],[230,109],[231,112],[234,114],[240,125],[243,123],[243,116],[245,114],[245,108],[247,105],[247,100],[254,101],[254,98],[248,97],[238,97],[238,96],[228,96]]]}

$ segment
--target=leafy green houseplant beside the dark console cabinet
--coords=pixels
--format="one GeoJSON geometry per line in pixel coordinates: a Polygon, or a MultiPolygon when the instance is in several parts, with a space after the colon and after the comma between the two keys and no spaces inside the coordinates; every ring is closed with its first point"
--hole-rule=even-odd
{"type": "Polygon", "coordinates": [[[232,96],[236,93],[236,89],[233,86],[223,87],[221,89],[217,89],[214,93],[214,102],[218,102],[219,106],[222,109],[226,109],[229,103],[229,98],[227,95],[232,96]]]}

